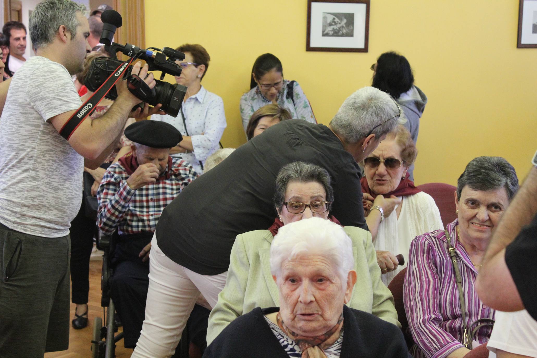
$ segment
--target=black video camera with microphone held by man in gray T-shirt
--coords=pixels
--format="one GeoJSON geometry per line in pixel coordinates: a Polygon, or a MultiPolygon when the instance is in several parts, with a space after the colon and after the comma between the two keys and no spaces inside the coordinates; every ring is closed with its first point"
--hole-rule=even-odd
{"type": "MultiPolygon", "coordinates": [[[[172,85],[162,80],[165,74],[172,76],[179,76],[181,74],[181,68],[175,61],[183,61],[185,54],[169,47],[164,47],[162,50],[150,47],[144,50],[129,43],[120,45],[119,43],[112,42],[115,30],[122,25],[121,15],[117,11],[106,10],[101,14],[101,20],[103,21],[103,34],[101,35],[100,43],[104,43],[105,50],[110,53],[110,57],[97,57],[93,60],[88,74],[84,79],[84,85],[88,87],[89,91],[97,91],[106,79],[123,63],[123,61],[118,60],[117,52],[132,57],[133,62],[136,59],[145,60],[149,65],[149,71],[162,72],[160,81],[155,79],[156,85],[153,89],[150,89],[143,82],[143,79],[135,75],[130,75],[130,70],[132,69],[132,65],[130,65],[124,71],[123,75],[123,78],[128,78],[129,80],[129,91],[151,106],[156,106],[159,103],[162,104],[162,111],[176,117],[183,103],[187,87],[180,84],[172,85]]],[[[115,85],[106,94],[105,98],[110,100],[118,98],[115,85]]]]}

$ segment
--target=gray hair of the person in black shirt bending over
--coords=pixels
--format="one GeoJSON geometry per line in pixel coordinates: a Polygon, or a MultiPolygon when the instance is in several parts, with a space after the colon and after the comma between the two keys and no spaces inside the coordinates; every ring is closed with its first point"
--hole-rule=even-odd
{"type": "Polygon", "coordinates": [[[388,93],[374,87],[363,87],[347,97],[330,121],[330,127],[349,144],[357,143],[369,134],[378,139],[405,122],[397,116],[399,111],[388,93]],[[388,120],[390,118],[393,119],[388,120]]]}

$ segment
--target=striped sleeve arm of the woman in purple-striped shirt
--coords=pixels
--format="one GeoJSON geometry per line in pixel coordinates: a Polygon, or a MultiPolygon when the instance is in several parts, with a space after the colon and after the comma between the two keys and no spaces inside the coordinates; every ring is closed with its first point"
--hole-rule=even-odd
{"type": "Polygon", "coordinates": [[[446,302],[442,302],[440,297],[441,277],[433,263],[435,256],[434,247],[427,242],[425,235],[412,240],[403,285],[404,307],[410,332],[426,356],[463,356],[462,353],[468,353],[469,350],[439,326],[443,319],[440,306],[446,302]]]}

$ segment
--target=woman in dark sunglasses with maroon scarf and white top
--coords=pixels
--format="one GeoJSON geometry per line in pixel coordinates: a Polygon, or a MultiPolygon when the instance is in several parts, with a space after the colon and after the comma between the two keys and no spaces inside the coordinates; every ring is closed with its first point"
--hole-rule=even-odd
{"type": "Polygon", "coordinates": [[[408,178],[417,154],[409,131],[399,125],[364,159],[365,177],[360,180],[364,211],[386,285],[404,267],[398,266],[395,255],[408,258],[413,238],[444,229],[434,199],[408,178]]]}

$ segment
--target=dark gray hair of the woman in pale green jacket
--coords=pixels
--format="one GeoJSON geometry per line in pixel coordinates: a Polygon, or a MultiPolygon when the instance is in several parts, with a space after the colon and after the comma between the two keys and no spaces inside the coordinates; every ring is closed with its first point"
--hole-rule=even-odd
{"type": "MultiPolygon", "coordinates": [[[[311,182],[315,181],[324,187],[326,201],[334,200],[334,191],[330,185],[330,174],[326,169],[304,162],[293,162],[281,167],[276,177],[276,191],[274,193],[274,206],[278,213],[285,201],[285,191],[290,181],[311,182]]],[[[332,204],[328,204],[330,210],[332,204]]]]}

